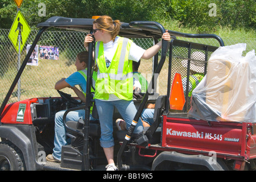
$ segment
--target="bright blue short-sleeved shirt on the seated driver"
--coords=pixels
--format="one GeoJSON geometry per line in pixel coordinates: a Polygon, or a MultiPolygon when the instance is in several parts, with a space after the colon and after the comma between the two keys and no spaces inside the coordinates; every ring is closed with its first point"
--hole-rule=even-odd
{"type": "Polygon", "coordinates": [[[75,72],[72,75],[70,75],[68,78],[66,78],[65,81],[70,86],[80,85],[82,90],[86,92],[86,80],[84,76],[81,75],[81,73],[75,72]]]}

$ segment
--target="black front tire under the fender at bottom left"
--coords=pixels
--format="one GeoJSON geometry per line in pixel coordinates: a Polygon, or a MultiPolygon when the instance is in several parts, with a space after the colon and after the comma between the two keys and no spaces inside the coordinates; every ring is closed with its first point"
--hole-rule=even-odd
{"type": "Polygon", "coordinates": [[[24,171],[23,155],[9,141],[0,142],[0,171],[24,171]]]}

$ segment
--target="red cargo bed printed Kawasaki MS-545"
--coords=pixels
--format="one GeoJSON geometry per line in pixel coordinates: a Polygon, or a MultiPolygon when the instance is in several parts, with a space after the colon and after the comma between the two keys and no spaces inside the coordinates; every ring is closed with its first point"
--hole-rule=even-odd
{"type": "Polygon", "coordinates": [[[188,154],[216,152],[218,158],[224,159],[256,157],[254,123],[207,122],[185,116],[163,116],[162,147],[188,154]]]}

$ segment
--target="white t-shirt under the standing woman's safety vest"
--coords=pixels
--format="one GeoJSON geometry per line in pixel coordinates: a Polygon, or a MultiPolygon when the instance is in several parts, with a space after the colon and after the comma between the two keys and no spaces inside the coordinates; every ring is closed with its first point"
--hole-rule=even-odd
{"type": "MultiPolygon", "coordinates": [[[[114,42],[111,40],[110,42],[103,44],[106,65],[110,65],[114,57],[114,53],[117,50],[118,39],[119,39],[119,36],[115,37],[114,42]]],[[[145,51],[146,51],[145,49],[137,46],[135,43],[132,43],[130,47],[130,52],[129,52],[129,60],[138,62],[145,51]]],[[[108,101],[115,101],[115,100],[121,100],[121,99],[115,96],[115,94],[109,94],[108,101]]]]}

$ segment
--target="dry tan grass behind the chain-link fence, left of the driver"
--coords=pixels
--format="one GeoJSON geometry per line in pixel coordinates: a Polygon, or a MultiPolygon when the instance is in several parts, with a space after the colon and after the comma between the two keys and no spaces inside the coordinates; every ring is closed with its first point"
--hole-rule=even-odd
{"type": "MultiPolygon", "coordinates": [[[[20,100],[35,97],[54,97],[59,94],[54,89],[55,83],[60,78],[68,77],[71,73],[76,71],[75,65],[68,66],[65,64],[66,59],[56,60],[39,60],[39,66],[27,65],[24,69],[22,76],[20,77],[20,100]]],[[[16,75],[15,69],[9,69],[9,71],[2,77],[1,84],[5,87],[1,88],[0,100],[5,98],[13,80],[16,75]]],[[[18,86],[15,86],[14,93],[10,97],[9,103],[16,102],[18,100],[18,86]]],[[[65,88],[63,92],[72,94],[75,96],[71,89],[65,88]]]]}

